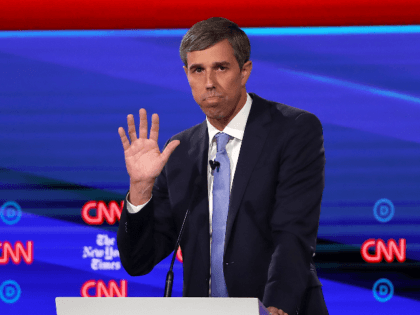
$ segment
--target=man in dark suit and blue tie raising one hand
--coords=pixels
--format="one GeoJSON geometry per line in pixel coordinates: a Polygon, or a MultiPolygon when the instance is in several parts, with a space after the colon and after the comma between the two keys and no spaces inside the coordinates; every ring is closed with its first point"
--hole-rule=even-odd
{"type": "Polygon", "coordinates": [[[160,153],[158,115],[118,132],[130,190],[121,262],[144,275],[181,249],[184,296],[258,297],[272,314],[328,314],[312,257],[324,188],[322,126],[311,113],[246,92],[250,44],[223,18],[195,24],[180,46],[206,121],[160,153]],[[211,165],[209,165],[211,161],[211,165]]]}

